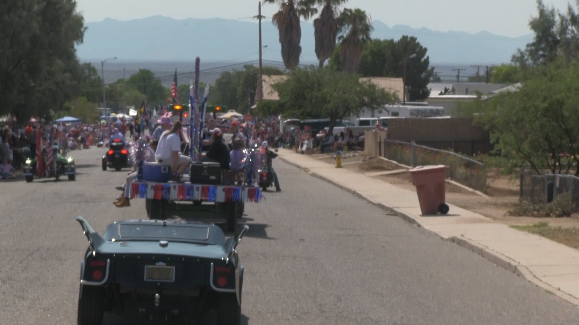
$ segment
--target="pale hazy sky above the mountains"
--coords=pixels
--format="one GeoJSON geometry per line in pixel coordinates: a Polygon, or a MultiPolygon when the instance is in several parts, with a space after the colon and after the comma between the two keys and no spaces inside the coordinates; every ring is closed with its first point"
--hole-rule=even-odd
{"type": "MultiPolygon", "coordinates": [[[[251,20],[258,0],[76,0],[85,21],[131,20],[160,14],[175,19],[221,17],[251,20]]],[[[574,1],[571,1],[574,5],[574,1]]],[[[566,10],[569,0],[544,0],[566,10]]],[[[366,10],[390,27],[397,24],[437,31],[489,31],[497,35],[529,34],[536,0],[349,0],[348,8],[366,10]]],[[[269,20],[277,5],[262,5],[269,20]]]]}

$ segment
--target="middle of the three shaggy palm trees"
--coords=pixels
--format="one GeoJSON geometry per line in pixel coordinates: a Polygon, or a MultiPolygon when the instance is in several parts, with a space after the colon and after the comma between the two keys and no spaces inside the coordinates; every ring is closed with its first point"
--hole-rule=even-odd
{"type": "Polygon", "coordinates": [[[347,0],[317,0],[323,5],[320,16],[314,19],[314,36],[316,36],[316,56],[320,60],[320,68],[332,57],[338,36],[339,5],[347,0]]]}

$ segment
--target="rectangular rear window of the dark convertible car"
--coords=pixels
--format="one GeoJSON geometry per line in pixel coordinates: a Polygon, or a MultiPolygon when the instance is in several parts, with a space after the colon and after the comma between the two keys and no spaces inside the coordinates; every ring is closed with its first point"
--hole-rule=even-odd
{"type": "Polygon", "coordinates": [[[206,241],[209,227],[204,226],[161,226],[154,224],[120,224],[119,235],[124,238],[189,239],[206,241]]]}

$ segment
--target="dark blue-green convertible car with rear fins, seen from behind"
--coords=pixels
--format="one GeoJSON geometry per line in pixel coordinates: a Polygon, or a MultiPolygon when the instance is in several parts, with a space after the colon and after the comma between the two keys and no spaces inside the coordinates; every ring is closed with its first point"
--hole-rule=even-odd
{"type": "Polygon", "coordinates": [[[110,224],[102,237],[77,217],[89,240],[80,262],[78,324],[101,325],[105,312],[137,323],[196,323],[216,311],[239,324],[243,267],[236,246],[243,226],[225,239],[218,226],[160,220],[110,224]]]}

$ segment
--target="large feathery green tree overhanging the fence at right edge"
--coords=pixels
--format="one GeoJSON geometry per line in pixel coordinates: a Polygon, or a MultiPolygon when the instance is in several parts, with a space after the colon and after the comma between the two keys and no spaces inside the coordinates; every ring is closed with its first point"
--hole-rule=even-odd
{"type": "Polygon", "coordinates": [[[512,153],[534,171],[579,176],[579,63],[562,62],[533,69],[519,91],[476,102],[497,149],[512,153]]]}

